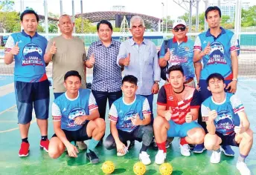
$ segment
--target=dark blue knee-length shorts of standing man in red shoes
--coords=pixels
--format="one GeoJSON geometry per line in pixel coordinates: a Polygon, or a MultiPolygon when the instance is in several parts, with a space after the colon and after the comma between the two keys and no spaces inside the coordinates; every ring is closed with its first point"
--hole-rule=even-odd
{"type": "Polygon", "coordinates": [[[48,119],[49,82],[14,82],[19,124],[27,124],[32,120],[34,108],[36,119],[48,119]]]}

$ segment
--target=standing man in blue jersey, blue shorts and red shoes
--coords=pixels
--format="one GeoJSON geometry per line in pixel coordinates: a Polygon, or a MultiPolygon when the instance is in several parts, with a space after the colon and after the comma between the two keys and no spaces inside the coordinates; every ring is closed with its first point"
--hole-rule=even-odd
{"type": "Polygon", "coordinates": [[[47,40],[36,33],[39,16],[33,10],[25,10],[21,16],[24,30],[13,33],[7,39],[4,62],[9,65],[15,59],[14,89],[18,108],[19,131],[22,144],[19,156],[28,156],[28,129],[32,110],[36,114],[42,139],[40,148],[48,151],[49,82],[45,73],[45,48],[47,40]]]}

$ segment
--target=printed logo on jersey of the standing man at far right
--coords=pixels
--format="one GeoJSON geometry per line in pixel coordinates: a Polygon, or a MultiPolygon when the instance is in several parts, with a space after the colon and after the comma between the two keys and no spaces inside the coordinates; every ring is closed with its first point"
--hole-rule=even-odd
{"type": "Polygon", "coordinates": [[[220,42],[211,43],[211,53],[209,54],[209,57],[207,65],[227,64],[224,57],[224,47],[220,42]]]}

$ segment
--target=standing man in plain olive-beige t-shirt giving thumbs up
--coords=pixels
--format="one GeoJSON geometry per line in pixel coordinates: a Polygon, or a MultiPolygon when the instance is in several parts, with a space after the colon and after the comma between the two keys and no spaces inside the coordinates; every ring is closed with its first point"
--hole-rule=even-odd
{"type": "MultiPolygon", "coordinates": [[[[53,62],[54,98],[65,93],[63,78],[68,70],[77,70],[82,77],[82,88],[86,88],[86,50],[83,41],[72,36],[74,22],[68,15],[60,16],[58,27],[61,35],[48,42],[45,62],[53,62]]],[[[86,149],[83,142],[77,142],[80,149],[86,149]]]]}

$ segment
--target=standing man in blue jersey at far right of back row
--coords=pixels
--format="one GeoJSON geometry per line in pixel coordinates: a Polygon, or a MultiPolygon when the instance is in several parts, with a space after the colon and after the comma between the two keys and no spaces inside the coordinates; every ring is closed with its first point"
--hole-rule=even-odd
{"type": "MultiPolygon", "coordinates": [[[[219,7],[208,7],[205,11],[205,19],[208,22],[209,29],[199,34],[196,38],[193,56],[196,72],[200,72],[202,69],[198,84],[202,102],[211,96],[206,83],[206,79],[211,73],[220,73],[224,77],[225,85],[227,85],[225,90],[231,93],[236,92],[238,74],[237,50],[239,50],[234,33],[220,27],[221,11],[219,7]]],[[[202,117],[199,117],[198,122],[205,128],[205,122],[202,122],[202,117]]],[[[203,145],[196,145],[194,148],[196,153],[202,153],[203,150],[205,150],[203,145]]],[[[229,146],[224,146],[223,152],[227,156],[234,156],[234,151],[229,146]]]]}

